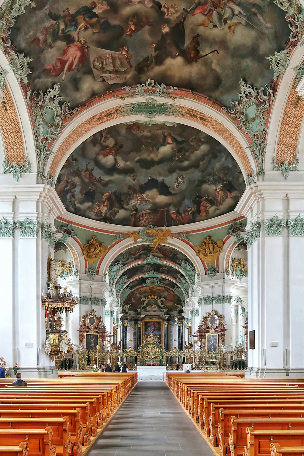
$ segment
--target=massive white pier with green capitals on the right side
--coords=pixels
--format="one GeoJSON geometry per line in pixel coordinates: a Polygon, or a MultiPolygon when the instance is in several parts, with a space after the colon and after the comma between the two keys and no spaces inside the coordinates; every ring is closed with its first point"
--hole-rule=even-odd
{"type": "Polygon", "coordinates": [[[246,377],[303,377],[304,274],[299,259],[304,253],[304,222],[295,236],[285,221],[294,221],[299,213],[303,217],[304,185],[255,183],[247,187],[237,210],[249,222],[246,377]],[[250,331],[255,331],[252,349],[250,331]]]}

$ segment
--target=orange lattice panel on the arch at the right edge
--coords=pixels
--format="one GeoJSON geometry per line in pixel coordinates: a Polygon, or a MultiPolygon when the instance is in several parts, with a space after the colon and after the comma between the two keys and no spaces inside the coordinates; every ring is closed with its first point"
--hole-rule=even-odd
{"type": "Polygon", "coordinates": [[[304,114],[304,99],[297,95],[295,88],[296,83],[294,82],[285,105],[280,125],[276,150],[277,163],[296,161],[299,132],[304,114]]]}

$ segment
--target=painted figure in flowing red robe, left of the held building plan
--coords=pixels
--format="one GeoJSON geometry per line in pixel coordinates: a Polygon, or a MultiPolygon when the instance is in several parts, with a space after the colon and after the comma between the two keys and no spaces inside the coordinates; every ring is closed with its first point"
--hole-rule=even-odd
{"type": "Polygon", "coordinates": [[[49,71],[54,77],[59,76],[63,72],[61,79],[64,81],[67,72],[74,71],[77,66],[79,70],[88,58],[88,43],[84,38],[79,38],[79,32],[82,29],[83,25],[80,25],[75,34],[76,42],[69,44],[63,49],[63,54],[56,58],[55,65],[50,63],[43,71],[49,71]]]}

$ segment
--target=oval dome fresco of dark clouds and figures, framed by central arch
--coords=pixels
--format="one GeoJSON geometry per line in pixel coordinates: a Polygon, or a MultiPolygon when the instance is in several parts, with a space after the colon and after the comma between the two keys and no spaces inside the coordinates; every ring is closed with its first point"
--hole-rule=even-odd
{"type": "Polygon", "coordinates": [[[67,211],[145,227],[198,222],[232,211],[245,182],[228,150],[188,125],[119,124],[84,141],[56,191],[67,211]]]}

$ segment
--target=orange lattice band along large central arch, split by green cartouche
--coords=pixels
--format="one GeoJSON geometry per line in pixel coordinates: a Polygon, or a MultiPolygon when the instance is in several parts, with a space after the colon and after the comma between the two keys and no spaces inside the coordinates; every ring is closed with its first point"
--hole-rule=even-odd
{"type": "MultiPolygon", "coordinates": [[[[119,113],[119,110],[122,106],[116,106],[111,109],[107,109],[100,114],[95,114],[89,119],[85,120],[81,125],[78,125],[72,132],[67,135],[66,139],[62,141],[62,144],[58,148],[56,154],[52,158],[51,163],[51,174],[55,175],[57,168],[62,161],[62,158],[67,153],[67,151],[72,148],[77,140],[81,139],[82,136],[86,135],[89,131],[93,130],[97,125],[102,125],[105,122],[113,119],[119,119],[124,117],[123,114],[119,113]]],[[[213,119],[208,115],[203,115],[201,112],[196,111],[195,109],[186,108],[185,106],[178,106],[178,108],[183,111],[184,115],[179,114],[177,117],[182,119],[194,120],[195,122],[204,125],[211,131],[214,131],[217,135],[221,136],[235,151],[236,155],[242,162],[244,170],[246,173],[250,174],[251,164],[247,157],[246,151],[237,140],[237,138],[218,120],[213,119]]]]}

